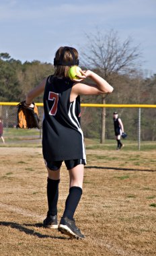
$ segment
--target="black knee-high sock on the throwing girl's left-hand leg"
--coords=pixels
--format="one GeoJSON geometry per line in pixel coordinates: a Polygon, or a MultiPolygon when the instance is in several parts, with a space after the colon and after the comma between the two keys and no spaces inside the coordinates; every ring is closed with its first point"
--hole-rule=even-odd
{"type": "Polygon", "coordinates": [[[58,202],[58,184],[60,180],[47,179],[47,199],[48,199],[48,212],[47,216],[55,216],[57,214],[58,202]]]}

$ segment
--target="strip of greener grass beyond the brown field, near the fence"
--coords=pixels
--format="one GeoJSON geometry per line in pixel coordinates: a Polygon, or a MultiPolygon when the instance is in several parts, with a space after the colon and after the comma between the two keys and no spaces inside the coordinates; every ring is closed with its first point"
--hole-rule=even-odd
{"type": "MultiPolygon", "coordinates": [[[[16,128],[5,128],[5,147],[32,147],[41,148],[41,131],[38,129],[16,129],[16,128]]],[[[106,142],[102,145],[99,139],[85,139],[87,149],[92,150],[114,150],[116,147],[116,141],[114,139],[106,139],[106,142]]],[[[138,141],[130,141],[129,139],[124,140],[126,150],[138,150],[138,141]]],[[[0,147],[4,145],[0,141],[0,147]]],[[[156,141],[141,141],[141,150],[156,150],[156,141]]]]}

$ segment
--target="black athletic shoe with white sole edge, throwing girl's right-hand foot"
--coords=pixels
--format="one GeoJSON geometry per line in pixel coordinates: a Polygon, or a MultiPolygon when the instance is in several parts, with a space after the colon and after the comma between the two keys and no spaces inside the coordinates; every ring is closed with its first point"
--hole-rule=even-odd
{"type": "Polygon", "coordinates": [[[61,218],[61,222],[58,226],[58,231],[60,231],[62,234],[67,234],[68,236],[70,236],[70,238],[85,238],[85,236],[81,234],[79,228],[77,228],[77,226],[75,225],[75,220],[70,220],[67,217],[61,218]]]}

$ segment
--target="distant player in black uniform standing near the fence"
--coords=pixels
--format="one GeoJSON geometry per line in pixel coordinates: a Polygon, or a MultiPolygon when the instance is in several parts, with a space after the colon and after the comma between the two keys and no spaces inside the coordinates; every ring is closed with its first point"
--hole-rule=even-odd
{"type": "Polygon", "coordinates": [[[116,135],[117,148],[116,150],[120,150],[124,145],[121,143],[121,135],[124,133],[124,125],[120,118],[118,118],[118,113],[113,113],[113,121],[114,121],[114,132],[116,135]]]}

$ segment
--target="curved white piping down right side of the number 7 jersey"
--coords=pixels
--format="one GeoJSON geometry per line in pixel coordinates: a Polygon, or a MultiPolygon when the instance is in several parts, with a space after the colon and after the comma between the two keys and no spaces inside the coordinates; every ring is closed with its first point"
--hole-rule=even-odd
{"type": "Polygon", "coordinates": [[[81,133],[82,148],[83,148],[83,159],[86,159],[83,131],[82,131],[80,125],[79,125],[79,121],[78,121],[77,117],[75,116],[75,103],[76,103],[76,100],[74,100],[74,102],[71,102],[71,104],[69,106],[69,113],[68,114],[69,114],[69,118],[71,119],[71,122],[75,125],[75,127],[77,127],[77,130],[79,131],[79,133],[81,133]],[[71,109],[71,106],[73,106],[73,109],[71,109]],[[73,113],[73,116],[74,116],[75,120],[71,117],[71,113],[73,113]]]}

